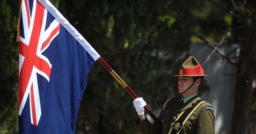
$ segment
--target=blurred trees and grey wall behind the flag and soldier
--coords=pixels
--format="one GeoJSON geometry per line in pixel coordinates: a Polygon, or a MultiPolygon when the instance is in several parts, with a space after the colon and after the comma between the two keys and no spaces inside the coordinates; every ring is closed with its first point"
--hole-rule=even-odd
{"type": "MultiPolygon", "coordinates": [[[[172,78],[189,55],[206,77],[216,134],[256,134],[255,0],[50,0],[156,116],[179,96],[172,78]]],[[[0,134],[18,133],[20,0],[0,0],[0,134]]],[[[76,134],[137,134],[132,97],[96,62],[76,134]]]]}

